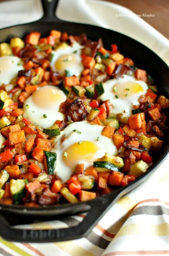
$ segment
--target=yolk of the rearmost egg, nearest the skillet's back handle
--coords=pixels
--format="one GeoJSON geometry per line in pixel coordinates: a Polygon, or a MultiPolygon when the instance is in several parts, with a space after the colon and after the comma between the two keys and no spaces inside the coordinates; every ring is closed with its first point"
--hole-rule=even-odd
{"type": "Polygon", "coordinates": [[[64,54],[58,57],[57,61],[55,62],[55,68],[57,71],[65,71],[70,66],[73,66],[77,63],[76,56],[73,54],[64,54]]]}

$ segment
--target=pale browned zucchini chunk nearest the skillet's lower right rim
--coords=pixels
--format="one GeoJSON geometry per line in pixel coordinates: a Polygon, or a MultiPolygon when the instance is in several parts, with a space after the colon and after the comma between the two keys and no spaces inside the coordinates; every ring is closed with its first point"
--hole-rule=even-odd
{"type": "Polygon", "coordinates": [[[128,175],[134,175],[137,178],[145,173],[148,167],[149,165],[147,163],[145,163],[143,160],[139,160],[130,167],[128,175]]]}

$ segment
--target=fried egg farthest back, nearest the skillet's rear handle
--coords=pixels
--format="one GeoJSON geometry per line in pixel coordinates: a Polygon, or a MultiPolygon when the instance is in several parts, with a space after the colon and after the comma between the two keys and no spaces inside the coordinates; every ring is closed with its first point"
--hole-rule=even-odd
{"type": "Polygon", "coordinates": [[[52,70],[58,72],[60,75],[64,75],[65,70],[67,70],[70,73],[69,76],[79,76],[84,69],[81,64],[81,48],[83,46],[74,41],[72,47],[66,46],[65,48],[58,48],[52,51],[52,60],[50,63],[52,70]]]}

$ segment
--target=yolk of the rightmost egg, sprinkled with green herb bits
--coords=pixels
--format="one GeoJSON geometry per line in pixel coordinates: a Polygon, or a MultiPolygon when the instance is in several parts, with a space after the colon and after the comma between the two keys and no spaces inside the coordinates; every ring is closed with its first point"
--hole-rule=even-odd
{"type": "Polygon", "coordinates": [[[113,87],[113,93],[118,95],[119,98],[126,98],[139,92],[143,92],[143,87],[136,82],[117,83],[113,87]]]}

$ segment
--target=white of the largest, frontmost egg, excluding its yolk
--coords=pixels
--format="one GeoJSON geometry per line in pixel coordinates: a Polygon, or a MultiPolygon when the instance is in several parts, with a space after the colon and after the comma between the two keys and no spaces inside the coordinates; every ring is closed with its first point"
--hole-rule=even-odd
{"type": "MultiPolygon", "coordinates": [[[[63,182],[66,182],[70,178],[77,164],[84,164],[84,167],[87,168],[93,164],[94,160],[104,156],[106,152],[109,155],[118,154],[117,148],[114,146],[113,140],[101,134],[103,128],[104,126],[91,124],[87,121],[74,122],[69,124],[65,128],[65,130],[61,132],[61,135],[56,137],[55,144],[52,147],[51,151],[57,154],[55,173],[62,178],[63,182]],[[78,130],[79,132],[81,132],[81,134],[73,132],[73,130],[78,130]],[[63,136],[68,137],[62,142],[63,136]],[[98,137],[99,140],[97,141],[98,137]],[[76,161],[74,159],[71,159],[71,167],[66,165],[64,163],[64,152],[66,152],[66,150],[74,143],[81,142],[80,145],[82,145],[83,141],[93,142],[96,146],[99,147],[99,150],[93,155],[92,159],[90,159],[89,161],[76,161]]],[[[76,158],[76,156],[74,157],[76,158]]]]}

